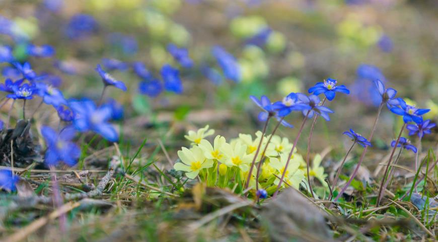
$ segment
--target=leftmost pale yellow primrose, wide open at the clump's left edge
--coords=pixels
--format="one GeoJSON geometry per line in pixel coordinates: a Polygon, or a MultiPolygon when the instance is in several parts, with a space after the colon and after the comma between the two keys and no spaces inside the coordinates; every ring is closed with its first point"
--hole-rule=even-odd
{"type": "Polygon", "coordinates": [[[201,169],[213,166],[213,160],[206,159],[204,152],[197,146],[190,150],[182,147],[182,150],[178,151],[178,157],[182,162],[176,163],[173,167],[175,170],[186,171],[186,176],[190,179],[194,179],[201,169]]]}

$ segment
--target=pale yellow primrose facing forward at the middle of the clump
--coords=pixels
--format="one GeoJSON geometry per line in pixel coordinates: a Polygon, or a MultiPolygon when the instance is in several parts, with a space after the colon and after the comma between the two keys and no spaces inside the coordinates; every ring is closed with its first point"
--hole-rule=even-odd
{"type": "Polygon", "coordinates": [[[234,146],[225,143],[221,147],[221,152],[224,154],[221,162],[228,167],[237,166],[241,170],[247,171],[249,169],[248,164],[252,162],[254,155],[247,155],[246,149],[246,145],[241,142],[236,142],[234,146]]]}

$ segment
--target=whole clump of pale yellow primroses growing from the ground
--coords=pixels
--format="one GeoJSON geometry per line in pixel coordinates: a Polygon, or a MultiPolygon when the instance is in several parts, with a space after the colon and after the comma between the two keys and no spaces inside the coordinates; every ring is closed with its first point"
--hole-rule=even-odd
{"type": "MultiPolygon", "coordinates": [[[[191,147],[182,147],[178,151],[181,162],[174,165],[175,170],[185,172],[188,178],[199,179],[208,186],[221,188],[228,187],[235,192],[241,192],[245,186],[251,163],[256,155],[257,147],[262,133],[258,131],[255,137],[247,134],[239,134],[238,138],[231,139],[229,142],[223,136],[216,136],[213,144],[205,138],[214,134],[205,126],[198,131],[189,131],[185,138],[191,141],[191,147]]],[[[268,194],[275,192],[284,171],[285,164],[292,148],[292,144],[287,138],[274,135],[268,144],[264,154],[267,141],[270,137],[263,137],[259,154],[255,159],[255,167],[252,172],[249,187],[251,189],[262,188],[268,194]],[[263,157],[262,157],[263,155],[263,157]],[[256,184],[257,166],[263,159],[260,167],[259,178],[256,184]]],[[[324,168],[320,166],[321,156],[316,155],[310,169],[310,175],[316,177],[324,186],[327,186],[324,178],[324,168]]],[[[294,187],[299,189],[301,183],[307,183],[306,162],[302,155],[294,153],[287,167],[284,183],[282,187],[294,187]]]]}

